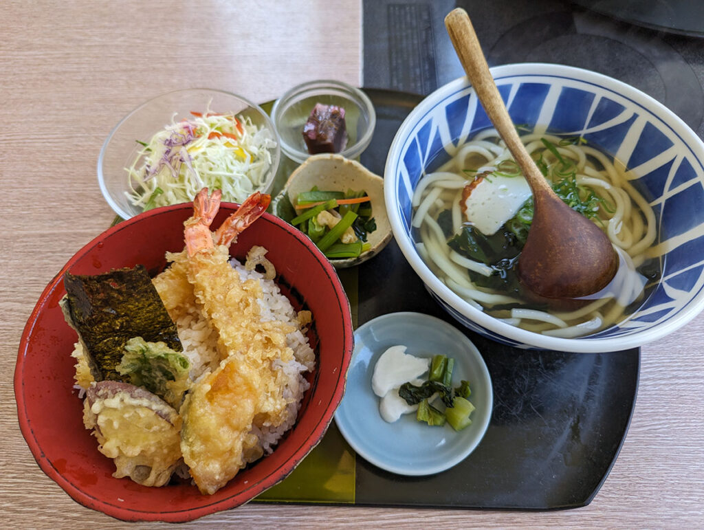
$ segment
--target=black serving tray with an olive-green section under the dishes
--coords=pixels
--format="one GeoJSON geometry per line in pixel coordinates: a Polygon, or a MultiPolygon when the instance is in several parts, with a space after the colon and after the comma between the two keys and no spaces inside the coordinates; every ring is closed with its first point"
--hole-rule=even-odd
{"type": "MultiPolygon", "coordinates": [[[[394,134],[422,96],[365,92],[375,104],[377,127],[361,162],[383,175],[394,134]]],[[[638,386],[638,349],[563,353],[520,350],[484,339],[442,310],[393,240],[375,258],[341,277],[358,324],[386,313],[417,311],[467,334],[482,352],[494,386],[489,429],[477,449],[446,472],[402,477],[359,456],[344,471],[339,462],[355,455],[332,425],[299,469],[259,500],[521,510],[591,502],[628,430],[638,386]],[[337,478],[333,470],[324,469],[327,465],[341,470],[337,478]],[[352,491],[340,493],[344,486],[339,485],[345,482],[352,491]],[[326,486],[330,483],[337,484],[337,490],[326,486]]]]}

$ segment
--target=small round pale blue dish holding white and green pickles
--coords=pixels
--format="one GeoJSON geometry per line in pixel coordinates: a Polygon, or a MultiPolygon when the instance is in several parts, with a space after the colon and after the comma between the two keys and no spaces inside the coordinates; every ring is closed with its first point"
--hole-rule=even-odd
{"type": "Polygon", "coordinates": [[[377,467],[396,474],[428,475],[458,464],[482,441],[493,407],[491,378],[476,346],[444,320],[421,313],[389,313],[360,326],[347,376],[347,388],[335,422],[356,452],[377,467]],[[379,415],[372,374],[386,348],[403,344],[406,353],[431,357],[445,353],[455,359],[453,386],[470,382],[476,407],[472,424],[454,431],[448,424],[429,427],[414,414],[387,423],[379,415]]]}

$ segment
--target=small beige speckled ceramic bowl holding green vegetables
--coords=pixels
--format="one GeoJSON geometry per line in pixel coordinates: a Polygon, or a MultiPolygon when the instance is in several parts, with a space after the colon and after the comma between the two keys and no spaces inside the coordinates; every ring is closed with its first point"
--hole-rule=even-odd
{"type": "Polygon", "coordinates": [[[299,165],[275,198],[272,211],[290,221],[296,215],[291,208],[296,196],[303,191],[310,191],[314,186],[323,191],[364,190],[371,199],[372,216],[377,224],[377,229],[367,234],[367,243],[371,248],[356,258],[331,259],[330,263],[334,267],[344,269],[359,265],[377,255],[391,241],[391,225],[384,206],[384,179],[360,163],[341,155],[315,155],[299,165]]]}

